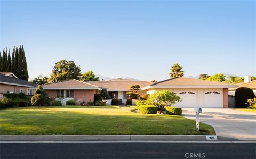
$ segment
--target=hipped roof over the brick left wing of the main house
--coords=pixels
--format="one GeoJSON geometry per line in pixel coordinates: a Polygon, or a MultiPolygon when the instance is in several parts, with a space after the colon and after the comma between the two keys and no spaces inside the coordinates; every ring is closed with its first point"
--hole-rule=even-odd
{"type": "Polygon", "coordinates": [[[75,79],[60,81],[42,85],[44,89],[98,89],[101,90],[98,86],[92,85],[87,82],[78,81],[75,79]]]}

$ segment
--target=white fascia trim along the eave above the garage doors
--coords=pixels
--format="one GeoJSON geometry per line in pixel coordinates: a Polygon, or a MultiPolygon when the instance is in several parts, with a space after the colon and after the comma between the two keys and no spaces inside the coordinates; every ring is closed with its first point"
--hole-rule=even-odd
{"type": "Polygon", "coordinates": [[[146,90],[150,88],[235,88],[237,85],[166,85],[166,86],[147,86],[141,88],[146,90]]]}

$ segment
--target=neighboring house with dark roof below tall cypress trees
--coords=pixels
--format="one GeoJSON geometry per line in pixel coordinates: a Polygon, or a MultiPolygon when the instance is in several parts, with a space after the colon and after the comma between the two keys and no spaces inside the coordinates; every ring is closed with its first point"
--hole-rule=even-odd
{"type": "Polygon", "coordinates": [[[0,93],[24,93],[31,95],[34,94],[34,91],[30,90],[30,88],[36,86],[35,83],[17,78],[11,72],[0,72],[0,93]]]}

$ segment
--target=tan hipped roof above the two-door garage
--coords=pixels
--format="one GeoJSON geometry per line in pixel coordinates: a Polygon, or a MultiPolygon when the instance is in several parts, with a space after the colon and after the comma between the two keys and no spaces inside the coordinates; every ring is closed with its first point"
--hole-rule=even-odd
{"type": "Polygon", "coordinates": [[[175,78],[153,83],[150,86],[142,88],[142,90],[146,90],[149,88],[234,88],[234,87],[237,87],[237,85],[233,85],[225,82],[207,81],[207,80],[187,78],[187,77],[175,77],[175,78]]]}

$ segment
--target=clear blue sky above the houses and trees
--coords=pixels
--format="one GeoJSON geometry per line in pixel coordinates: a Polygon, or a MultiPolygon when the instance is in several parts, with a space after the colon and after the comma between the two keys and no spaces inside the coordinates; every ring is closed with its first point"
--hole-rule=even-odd
{"type": "Polygon", "coordinates": [[[255,1],[2,1],[1,51],[24,45],[30,77],[66,59],[107,77],[256,73],[255,1]]]}

